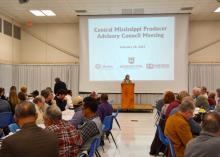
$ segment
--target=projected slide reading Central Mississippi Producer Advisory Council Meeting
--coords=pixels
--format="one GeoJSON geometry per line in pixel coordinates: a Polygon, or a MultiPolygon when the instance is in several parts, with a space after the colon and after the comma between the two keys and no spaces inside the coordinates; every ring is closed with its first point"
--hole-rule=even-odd
{"type": "Polygon", "coordinates": [[[174,80],[174,17],[88,19],[89,80],[174,80]]]}

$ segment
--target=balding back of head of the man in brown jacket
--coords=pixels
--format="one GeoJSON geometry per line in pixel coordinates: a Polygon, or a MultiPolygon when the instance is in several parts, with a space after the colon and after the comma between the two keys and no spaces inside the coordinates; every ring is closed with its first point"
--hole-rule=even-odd
{"type": "Polygon", "coordinates": [[[15,107],[15,117],[16,118],[26,118],[36,116],[36,109],[34,104],[29,101],[23,101],[22,103],[16,105],[15,107]]]}

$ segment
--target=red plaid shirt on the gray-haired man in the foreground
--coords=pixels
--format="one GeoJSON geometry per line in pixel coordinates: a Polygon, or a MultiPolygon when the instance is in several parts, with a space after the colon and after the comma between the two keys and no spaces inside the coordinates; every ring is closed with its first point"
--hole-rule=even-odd
{"type": "Polygon", "coordinates": [[[83,143],[80,133],[70,123],[60,120],[46,130],[56,133],[59,139],[59,157],[76,157],[83,143]]]}

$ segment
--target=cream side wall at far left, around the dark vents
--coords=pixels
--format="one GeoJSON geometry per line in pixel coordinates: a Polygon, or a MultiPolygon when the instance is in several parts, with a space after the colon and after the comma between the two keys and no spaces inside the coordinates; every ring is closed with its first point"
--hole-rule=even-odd
{"type": "MultiPolygon", "coordinates": [[[[19,26],[13,19],[0,14],[0,18],[7,20],[12,24],[19,26]]],[[[3,23],[2,23],[3,24],[3,23]]],[[[15,39],[2,32],[0,33],[0,63],[19,63],[20,62],[20,49],[21,40],[15,39]]]]}

